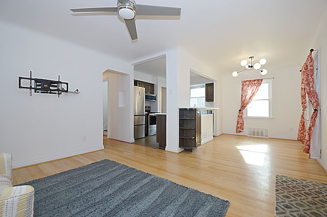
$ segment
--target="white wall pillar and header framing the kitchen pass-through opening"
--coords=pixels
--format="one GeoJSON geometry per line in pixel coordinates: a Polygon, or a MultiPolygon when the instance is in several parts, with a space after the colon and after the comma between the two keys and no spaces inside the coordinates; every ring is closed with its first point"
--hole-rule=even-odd
{"type": "MultiPolygon", "coordinates": [[[[220,74],[207,67],[205,64],[196,60],[190,56],[189,53],[183,49],[172,49],[167,52],[167,146],[166,150],[180,152],[178,134],[178,107],[190,106],[190,71],[197,71],[215,80],[214,96],[215,107],[219,107],[222,98],[222,92],[218,92],[220,89],[220,82],[216,82],[220,79],[220,74]],[[217,87],[218,86],[218,87],[217,87]],[[177,120],[177,121],[176,121],[177,120]]],[[[222,118],[221,113],[215,115],[216,129],[220,129],[218,126],[222,118]]],[[[217,132],[216,132],[217,133],[217,132]]]]}

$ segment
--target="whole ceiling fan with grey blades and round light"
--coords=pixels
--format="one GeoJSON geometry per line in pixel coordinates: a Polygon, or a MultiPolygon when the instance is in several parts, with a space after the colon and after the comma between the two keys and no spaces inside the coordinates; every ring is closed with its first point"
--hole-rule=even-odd
{"type": "Polygon", "coordinates": [[[126,23],[129,35],[132,40],[137,39],[135,16],[180,16],[180,8],[137,5],[134,0],[117,0],[117,7],[111,8],[79,8],[71,9],[73,12],[118,12],[126,23]]]}

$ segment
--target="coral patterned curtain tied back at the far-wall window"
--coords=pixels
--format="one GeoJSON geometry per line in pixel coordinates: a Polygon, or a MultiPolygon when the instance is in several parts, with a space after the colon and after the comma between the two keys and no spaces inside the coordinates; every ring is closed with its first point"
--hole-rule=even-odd
{"type": "Polygon", "coordinates": [[[262,78],[242,81],[241,107],[237,116],[236,132],[244,130],[243,110],[250,104],[256,92],[258,92],[262,81],[262,78]]]}

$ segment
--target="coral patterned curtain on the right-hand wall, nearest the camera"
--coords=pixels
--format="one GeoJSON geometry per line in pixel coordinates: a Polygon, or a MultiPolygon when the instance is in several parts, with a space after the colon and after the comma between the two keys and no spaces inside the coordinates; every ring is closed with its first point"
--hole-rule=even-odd
{"type": "MultiPolygon", "coordinates": [[[[301,78],[302,78],[301,79],[301,104],[306,102],[305,98],[306,95],[308,95],[310,104],[312,105],[314,111],[310,118],[310,124],[307,133],[306,133],[305,124],[303,124],[303,122],[305,121],[304,111],[302,111],[297,139],[304,144],[303,152],[310,154],[312,132],[316,124],[316,118],[319,108],[319,99],[318,99],[318,94],[315,90],[315,82],[314,82],[314,61],[311,52],[309,53],[305,64],[303,64],[302,66],[301,73],[302,73],[301,74],[301,78]],[[305,138],[305,140],[303,140],[303,138],[305,138]]],[[[302,110],[305,109],[306,106],[303,106],[302,104],[302,110]]]]}

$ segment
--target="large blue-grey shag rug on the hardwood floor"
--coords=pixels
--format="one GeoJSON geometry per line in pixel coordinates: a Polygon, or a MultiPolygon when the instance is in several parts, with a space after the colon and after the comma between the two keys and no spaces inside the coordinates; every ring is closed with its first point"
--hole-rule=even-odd
{"type": "Polygon", "coordinates": [[[23,184],[34,216],[225,216],[229,201],[111,160],[23,184]]]}

